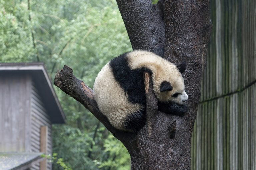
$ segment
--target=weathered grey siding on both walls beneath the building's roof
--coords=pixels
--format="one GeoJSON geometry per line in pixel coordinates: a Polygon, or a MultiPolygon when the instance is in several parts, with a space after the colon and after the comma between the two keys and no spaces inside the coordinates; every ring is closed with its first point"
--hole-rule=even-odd
{"type": "MultiPolygon", "coordinates": [[[[0,152],[40,152],[41,126],[48,126],[47,154],[52,154],[52,124],[31,76],[1,72],[0,152]]],[[[31,169],[39,170],[39,163],[31,169]]]]}

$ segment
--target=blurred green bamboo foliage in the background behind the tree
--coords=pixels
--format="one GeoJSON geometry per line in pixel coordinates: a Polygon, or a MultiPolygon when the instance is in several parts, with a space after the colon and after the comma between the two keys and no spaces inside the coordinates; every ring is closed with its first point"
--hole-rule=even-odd
{"type": "MultiPolygon", "coordinates": [[[[89,87],[114,56],[132,50],[115,0],[0,0],[0,62],[64,64],[89,87]],[[33,41],[34,36],[34,41],[33,41]]],[[[125,147],[80,103],[54,86],[67,120],[53,125],[53,152],[76,170],[130,169],[125,147]]],[[[56,162],[53,169],[63,169],[56,162]]]]}

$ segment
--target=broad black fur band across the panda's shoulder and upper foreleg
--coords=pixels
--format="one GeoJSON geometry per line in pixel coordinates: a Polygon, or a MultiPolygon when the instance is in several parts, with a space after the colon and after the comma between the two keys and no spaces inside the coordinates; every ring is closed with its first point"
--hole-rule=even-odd
{"type": "Polygon", "coordinates": [[[122,89],[127,93],[128,101],[146,105],[143,72],[152,71],[148,68],[130,69],[126,53],[113,58],[110,61],[115,80],[119,82],[122,89]]]}

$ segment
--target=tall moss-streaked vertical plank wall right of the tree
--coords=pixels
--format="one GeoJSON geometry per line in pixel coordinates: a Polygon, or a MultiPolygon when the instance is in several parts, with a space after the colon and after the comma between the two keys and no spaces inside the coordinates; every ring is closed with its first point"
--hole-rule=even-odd
{"type": "Polygon", "coordinates": [[[191,169],[255,170],[256,1],[210,0],[210,15],[191,169]]]}

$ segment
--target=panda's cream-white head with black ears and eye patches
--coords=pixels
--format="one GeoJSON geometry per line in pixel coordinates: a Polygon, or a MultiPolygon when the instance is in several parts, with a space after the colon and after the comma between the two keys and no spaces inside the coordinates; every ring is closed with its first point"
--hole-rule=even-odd
{"type": "MultiPolygon", "coordinates": [[[[165,71],[162,75],[163,78],[159,78],[157,81],[157,97],[161,102],[175,102],[180,105],[184,104],[188,100],[188,95],[185,92],[184,80],[182,73],[186,69],[186,63],[182,62],[179,65],[171,65],[169,71],[165,71]]],[[[161,77],[161,73],[159,73],[161,77]]]]}

